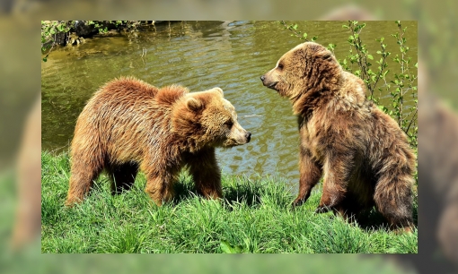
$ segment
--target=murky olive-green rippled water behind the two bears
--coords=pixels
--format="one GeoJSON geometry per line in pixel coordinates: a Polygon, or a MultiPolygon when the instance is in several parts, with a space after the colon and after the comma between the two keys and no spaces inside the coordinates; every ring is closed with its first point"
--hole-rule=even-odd
{"type": "MultiPolygon", "coordinates": [[[[343,58],[349,48],[343,23],[298,22],[298,30],[318,36],[322,45],[338,44],[335,54],[343,58]]],[[[415,64],[417,25],[404,22],[403,26],[408,27],[415,64]]],[[[367,22],[363,39],[369,51],[379,49],[375,39],[380,37],[389,51],[398,51],[391,37],[396,28],[392,21],[367,22]]],[[[233,103],[240,124],[252,133],[247,145],[217,150],[223,172],[279,175],[295,184],[299,177],[296,118],[289,101],[260,81],[280,56],[302,42],[290,34],[275,21],[189,21],[158,25],[155,31],[139,32],[137,38],[119,35],[57,48],[47,63],[41,63],[42,150],[67,150],[87,99],[120,75],[134,75],[157,87],[178,83],[198,91],[218,86],[233,103]]]]}

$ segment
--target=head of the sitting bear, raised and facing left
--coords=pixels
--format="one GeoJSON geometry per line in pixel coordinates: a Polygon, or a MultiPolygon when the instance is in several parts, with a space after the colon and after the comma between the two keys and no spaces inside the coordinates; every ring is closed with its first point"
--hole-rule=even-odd
{"type": "Polygon", "coordinates": [[[299,44],[286,52],[277,65],[260,80],[286,98],[297,98],[308,90],[327,89],[336,84],[342,72],[330,50],[314,42],[299,44]]]}

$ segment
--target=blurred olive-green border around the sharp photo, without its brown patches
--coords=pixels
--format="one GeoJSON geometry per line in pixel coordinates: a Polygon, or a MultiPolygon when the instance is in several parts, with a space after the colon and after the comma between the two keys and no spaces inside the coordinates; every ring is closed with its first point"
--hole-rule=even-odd
{"type": "MultiPolygon", "coordinates": [[[[2,273],[95,273],[102,271],[124,272],[153,270],[154,272],[301,272],[306,273],[396,273],[405,271],[405,265],[414,266],[418,273],[454,273],[456,257],[445,259],[444,253],[437,248],[436,219],[428,224],[430,217],[440,215],[442,208],[429,210],[434,192],[424,192],[420,197],[418,218],[419,249],[417,256],[390,255],[42,255],[40,254],[40,233],[35,232],[34,240],[12,251],[9,241],[13,233],[14,210],[18,203],[15,184],[18,174],[16,158],[24,132],[23,124],[34,101],[40,96],[40,20],[65,19],[167,19],[167,20],[336,20],[356,19],[368,16],[374,20],[418,20],[419,101],[425,98],[425,108],[438,99],[441,106],[456,109],[458,93],[456,86],[457,51],[454,49],[457,18],[453,11],[458,10],[455,1],[414,1],[387,0],[367,3],[366,1],[328,1],[304,3],[298,0],[284,1],[243,1],[243,0],[174,0],[174,1],[57,1],[57,0],[5,0],[0,4],[0,238],[4,248],[0,253],[2,273]],[[154,18],[155,17],[155,18],[154,18]],[[434,98],[434,100],[430,99],[434,98]],[[431,199],[431,200],[430,200],[431,199]],[[421,210],[427,214],[421,216],[421,210]],[[429,215],[428,215],[429,214],[429,215]],[[431,231],[425,226],[433,226],[431,231]],[[422,231],[424,231],[422,233],[422,231]],[[427,244],[422,244],[427,243],[427,244]],[[435,245],[436,244],[436,245],[435,245]],[[122,256],[122,257],[120,257],[122,256]],[[216,258],[218,256],[218,258],[216,258]],[[269,257],[268,257],[269,256],[269,257]],[[388,272],[387,272],[388,273],[388,272]]],[[[366,18],[366,17],[365,17],[366,18]]],[[[422,110],[419,114],[419,134],[421,128],[432,124],[422,124],[422,110]]],[[[453,121],[454,112],[447,114],[453,121]]],[[[441,120],[442,121],[442,120],[441,120]]],[[[448,129],[455,130],[458,124],[452,122],[448,129]]],[[[32,136],[40,139],[40,134],[32,136]]],[[[421,146],[421,137],[419,138],[421,146]]],[[[39,142],[40,143],[40,142],[39,142]]],[[[450,158],[458,155],[455,141],[434,143],[437,158],[450,158]]],[[[419,149],[421,150],[421,149],[419,149]]],[[[40,151],[40,150],[38,150],[40,151]]],[[[419,159],[428,157],[418,153],[419,159]]],[[[31,153],[24,158],[31,162],[40,159],[39,153],[31,153]]],[[[452,159],[452,167],[458,164],[452,159]]],[[[445,181],[448,188],[456,186],[458,181],[441,175],[429,177],[431,170],[419,169],[419,192],[423,185],[445,181]],[[422,183],[425,182],[423,185],[422,183]]],[[[40,184],[40,178],[27,180],[27,185],[40,184]]],[[[40,192],[32,193],[40,199],[40,192]]],[[[440,194],[436,199],[441,200],[440,194]]],[[[28,208],[32,214],[39,214],[38,207],[28,208]]],[[[456,235],[450,234],[443,242],[456,243],[456,235]]]]}

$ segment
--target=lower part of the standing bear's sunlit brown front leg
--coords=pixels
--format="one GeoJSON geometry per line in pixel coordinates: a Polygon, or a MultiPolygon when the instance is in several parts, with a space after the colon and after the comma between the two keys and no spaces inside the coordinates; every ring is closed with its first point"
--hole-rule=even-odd
{"type": "Polygon", "coordinates": [[[172,176],[147,176],[145,193],[148,193],[157,206],[172,201],[172,176]]]}

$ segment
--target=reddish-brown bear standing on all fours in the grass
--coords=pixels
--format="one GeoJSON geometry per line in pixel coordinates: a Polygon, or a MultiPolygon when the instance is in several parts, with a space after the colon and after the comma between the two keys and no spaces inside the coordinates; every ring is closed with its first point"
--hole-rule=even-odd
{"type": "Polygon", "coordinates": [[[128,190],[142,170],[145,192],[161,205],[172,199],[173,181],[187,166],[198,193],[221,198],[215,148],[250,139],[220,88],[189,92],[115,79],[94,94],[76,122],[66,205],[82,201],[103,169],[112,193],[128,190]]]}

